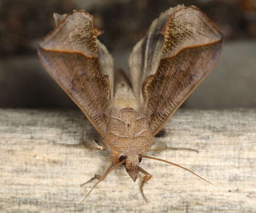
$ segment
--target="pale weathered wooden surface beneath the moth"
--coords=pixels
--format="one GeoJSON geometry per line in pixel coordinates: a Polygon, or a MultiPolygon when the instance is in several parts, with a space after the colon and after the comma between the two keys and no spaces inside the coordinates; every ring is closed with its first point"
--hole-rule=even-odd
{"type": "Polygon", "coordinates": [[[255,212],[256,109],[180,109],[156,140],[188,151],[155,157],[179,163],[213,183],[162,162],[143,159],[145,185],[123,167],[101,182],[83,204],[94,173],[109,157],[79,144],[94,130],[79,111],[0,109],[0,212],[255,212]]]}

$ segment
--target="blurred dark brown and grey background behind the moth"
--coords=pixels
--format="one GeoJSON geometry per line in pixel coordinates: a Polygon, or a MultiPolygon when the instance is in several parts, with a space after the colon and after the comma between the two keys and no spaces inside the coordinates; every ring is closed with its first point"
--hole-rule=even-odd
{"type": "Polygon", "coordinates": [[[53,12],[94,15],[115,67],[128,71],[133,46],[161,12],[178,4],[199,7],[224,37],[217,66],[183,107],[256,107],[256,0],[0,0],[0,107],[76,108],[37,58],[53,12]]]}

